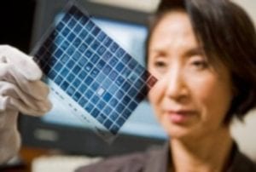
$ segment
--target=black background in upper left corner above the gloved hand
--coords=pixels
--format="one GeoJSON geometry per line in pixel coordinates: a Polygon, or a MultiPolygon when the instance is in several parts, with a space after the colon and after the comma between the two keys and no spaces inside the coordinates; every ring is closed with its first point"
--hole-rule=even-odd
{"type": "Polygon", "coordinates": [[[34,0],[1,2],[0,44],[9,44],[29,53],[35,4],[34,0]]]}

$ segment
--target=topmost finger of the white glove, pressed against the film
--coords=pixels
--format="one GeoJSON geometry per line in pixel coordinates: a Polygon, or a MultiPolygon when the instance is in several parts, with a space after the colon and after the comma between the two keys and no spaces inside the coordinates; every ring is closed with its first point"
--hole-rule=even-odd
{"type": "Polygon", "coordinates": [[[38,80],[43,75],[31,56],[9,45],[0,45],[0,63],[12,64],[26,80],[38,80]]]}

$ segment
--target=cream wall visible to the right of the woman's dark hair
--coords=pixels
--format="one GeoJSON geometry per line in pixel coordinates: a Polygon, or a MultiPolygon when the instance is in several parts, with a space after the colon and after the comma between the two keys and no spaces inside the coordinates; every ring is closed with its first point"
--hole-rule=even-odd
{"type": "MultiPolygon", "coordinates": [[[[233,0],[235,3],[241,5],[243,9],[247,10],[247,13],[252,18],[254,26],[256,26],[256,1],[253,0],[233,0]]],[[[256,55],[256,54],[255,54],[256,55]]],[[[231,127],[232,135],[236,139],[240,146],[241,152],[247,154],[248,157],[256,161],[256,109],[249,112],[241,123],[238,120],[234,120],[231,127]]]]}

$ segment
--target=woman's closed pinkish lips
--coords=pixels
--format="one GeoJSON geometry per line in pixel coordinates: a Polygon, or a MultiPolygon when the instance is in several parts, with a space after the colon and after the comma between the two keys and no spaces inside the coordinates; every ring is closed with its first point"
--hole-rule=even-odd
{"type": "Polygon", "coordinates": [[[195,116],[195,111],[168,111],[167,115],[172,123],[186,123],[195,116]]]}

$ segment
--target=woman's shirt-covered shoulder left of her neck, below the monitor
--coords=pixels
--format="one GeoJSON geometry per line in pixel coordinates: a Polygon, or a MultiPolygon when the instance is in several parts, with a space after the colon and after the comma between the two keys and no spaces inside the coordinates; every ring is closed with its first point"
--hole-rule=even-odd
{"type": "Polygon", "coordinates": [[[145,152],[133,152],[125,155],[105,158],[98,163],[80,167],[76,172],[139,172],[144,171],[150,159],[157,157],[161,148],[150,149],[145,152]]]}

